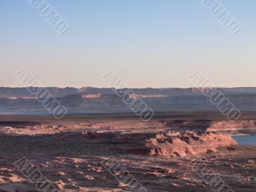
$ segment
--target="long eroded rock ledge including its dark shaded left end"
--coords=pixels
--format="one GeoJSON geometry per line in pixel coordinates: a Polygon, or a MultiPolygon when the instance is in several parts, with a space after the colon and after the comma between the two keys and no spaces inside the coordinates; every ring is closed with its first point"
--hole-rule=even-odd
{"type": "Polygon", "coordinates": [[[85,140],[86,144],[109,145],[113,151],[124,154],[184,157],[216,152],[218,148],[237,145],[229,134],[216,132],[60,132],[56,140],[85,140]]]}

